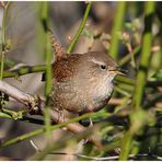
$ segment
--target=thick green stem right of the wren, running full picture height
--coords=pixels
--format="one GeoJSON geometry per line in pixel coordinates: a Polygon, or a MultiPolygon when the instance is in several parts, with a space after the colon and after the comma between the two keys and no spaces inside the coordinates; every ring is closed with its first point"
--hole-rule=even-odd
{"type": "Polygon", "coordinates": [[[141,58],[140,58],[140,63],[139,63],[139,71],[137,73],[137,80],[135,84],[135,92],[132,94],[132,113],[130,114],[130,121],[131,126],[128,131],[125,132],[124,139],[123,139],[123,144],[121,144],[121,151],[119,155],[119,160],[127,160],[129,157],[129,152],[131,149],[132,140],[134,140],[134,135],[135,132],[138,131],[138,129],[141,129],[144,125],[139,126],[136,128],[136,131],[132,130],[135,128],[135,124],[138,119],[140,119],[141,124],[143,121],[143,117],[139,118],[139,114],[143,115],[144,112],[141,109],[142,105],[142,96],[143,96],[143,91],[144,86],[147,83],[147,74],[148,74],[148,67],[151,58],[151,44],[152,44],[152,24],[153,24],[153,13],[154,13],[154,2],[153,1],[148,1],[144,4],[144,33],[143,33],[143,40],[142,40],[142,46],[141,46],[141,58]],[[137,114],[137,115],[136,115],[137,114]],[[137,117],[135,117],[137,116],[137,117]],[[136,119],[136,120],[135,120],[136,119]]]}

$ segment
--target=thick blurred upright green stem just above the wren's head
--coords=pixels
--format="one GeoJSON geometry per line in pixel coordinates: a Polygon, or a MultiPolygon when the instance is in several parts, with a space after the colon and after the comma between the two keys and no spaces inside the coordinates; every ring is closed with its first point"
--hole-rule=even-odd
{"type": "Polygon", "coordinates": [[[124,23],[124,15],[126,10],[126,1],[117,2],[117,11],[112,31],[112,39],[111,39],[111,48],[109,48],[109,55],[117,59],[118,55],[118,47],[119,47],[119,38],[118,38],[118,32],[123,28],[124,23]]]}

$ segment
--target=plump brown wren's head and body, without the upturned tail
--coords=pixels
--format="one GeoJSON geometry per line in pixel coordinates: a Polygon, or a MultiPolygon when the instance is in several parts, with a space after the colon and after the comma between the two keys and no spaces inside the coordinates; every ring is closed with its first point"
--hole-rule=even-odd
{"type": "Polygon", "coordinates": [[[103,108],[112,96],[113,80],[120,73],[106,53],[70,54],[53,65],[53,107],[77,114],[103,108]]]}

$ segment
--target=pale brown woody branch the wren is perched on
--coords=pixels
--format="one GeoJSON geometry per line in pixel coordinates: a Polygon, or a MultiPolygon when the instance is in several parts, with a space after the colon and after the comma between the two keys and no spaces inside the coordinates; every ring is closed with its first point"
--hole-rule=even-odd
{"type": "MultiPolygon", "coordinates": [[[[31,114],[39,114],[39,115],[43,114],[42,112],[43,112],[44,102],[38,96],[28,94],[3,81],[0,81],[0,91],[13,97],[14,100],[21,102],[25,106],[27,106],[30,108],[31,114]]],[[[66,116],[61,118],[60,112],[58,112],[55,108],[50,111],[50,116],[55,123],[65,123],[69,120],[69,118],[67,118],[66,116]]],[[[71,123],[67,125],[66,128],[74,134],[83,132],[86,129],[85,127],[81,126],[78,123],[71,123]]],[[[100,139],[96,136],[95,137],[94,135],[91,136],[89,140],[92,141],[97,148],[102,147],[100,139]]]]}

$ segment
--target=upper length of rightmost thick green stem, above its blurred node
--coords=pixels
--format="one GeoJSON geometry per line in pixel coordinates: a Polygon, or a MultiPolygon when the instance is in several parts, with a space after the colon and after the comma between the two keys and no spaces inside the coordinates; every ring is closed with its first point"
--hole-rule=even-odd
{"type": "Polygon", "coordinates": [[[144,19],[144,33],[142,40],[141,57],[139,63],[139,71],[135,85],[135,93],[132,95],[132,103],[135,109],[140,109],[144,86],[147,83],[148,67],[151,59],[151,45],[152,45],[152,24],[153,24],[154,2],[149,1],[146,3],[146,19],[144,19]]]}

